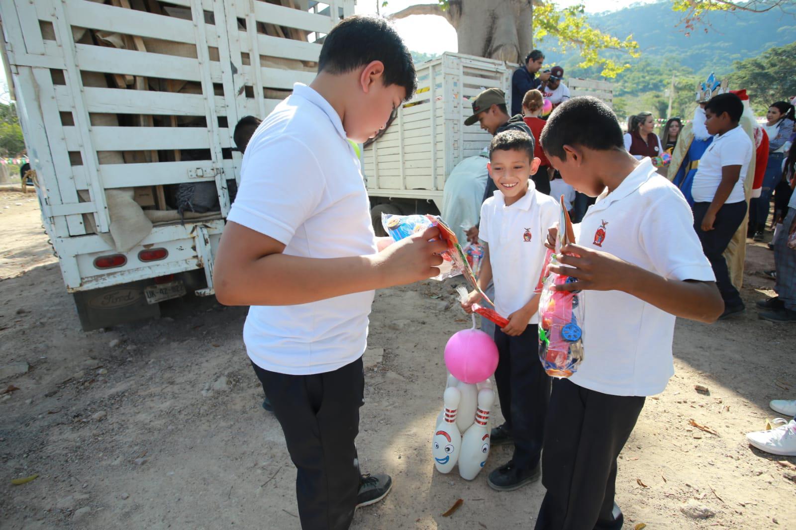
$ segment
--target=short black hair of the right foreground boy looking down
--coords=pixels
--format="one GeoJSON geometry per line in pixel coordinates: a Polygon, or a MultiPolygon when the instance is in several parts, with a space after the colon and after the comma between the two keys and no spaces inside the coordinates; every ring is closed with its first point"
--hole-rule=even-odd
{"type": "Polygon", "coordinates": [[[622,127],[614,111],[591,95],[579,95],[561,103],[548,118],[539,142],[544,151],[566,160],[564,146],[583,146],[591,150],[624,150],[622,127]]]}

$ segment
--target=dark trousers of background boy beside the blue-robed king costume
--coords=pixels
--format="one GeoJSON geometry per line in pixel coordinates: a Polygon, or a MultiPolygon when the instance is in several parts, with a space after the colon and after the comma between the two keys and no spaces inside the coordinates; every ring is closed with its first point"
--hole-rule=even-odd
{"type": "Polygon", "coordinates": [[[727,267],[727,259],[724,259],[724,251],[732,241],[738,227],[743,223],[743,216],[746,215],[746,201],[724,203],[716,213],[716,220],[713,222],[713,229],[704,232],[702,230],[702,220],[704,214],[708,212],[709,202],[696,202],[693,205],[694,230],[702,244],[702,251],[708,258],[713,274],[716,275],[716,286],[719,288],[721,298],[724,298],[725,307],[735,307],[743,305],[741,295],[730,281],[730,271],[727,267]]]}

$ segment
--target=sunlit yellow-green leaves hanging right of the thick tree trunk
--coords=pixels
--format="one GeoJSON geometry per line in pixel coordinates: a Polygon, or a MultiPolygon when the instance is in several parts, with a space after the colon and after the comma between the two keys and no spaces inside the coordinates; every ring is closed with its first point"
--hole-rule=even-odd
{"type": "Polygon", "coordinates": [[[632,33],[621,40],[590,25],[583,4],[563,10],[552,2],[535,7],[533,36],[538,41],[544,41],[548,36],[556,37],[557,46],[554,47],[563,53],[572,50],[579,55],[577,68],[599,67],[599,75],[608,78],[630,68],[630,64],[622,61],[621,57],[641,55],[632,33]],[[620,55],[618,58],[606,57],[606,50],[614,50],[620,55]]]}

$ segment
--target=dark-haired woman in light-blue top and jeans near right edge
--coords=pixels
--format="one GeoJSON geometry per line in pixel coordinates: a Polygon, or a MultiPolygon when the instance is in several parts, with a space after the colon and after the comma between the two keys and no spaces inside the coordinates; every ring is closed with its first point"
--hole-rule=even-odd
{"type": "MultiPolygon", "coordinates": [[[[755,241],[763,241],[763,230],[766,228],[771,207],[771,194],[782,180],[782,160],[785,158],[785,144],[794,131],[794,112],[794,106],[786,101],[776,101],[768,107],[767,123],[763,124],[763,129],[768,134],[768,164],[763,175],[760,197],[752,199],[749,205],[748,232],[755,241]]],[[[786,192],[783,190],[783,193],[786,192]]]]}

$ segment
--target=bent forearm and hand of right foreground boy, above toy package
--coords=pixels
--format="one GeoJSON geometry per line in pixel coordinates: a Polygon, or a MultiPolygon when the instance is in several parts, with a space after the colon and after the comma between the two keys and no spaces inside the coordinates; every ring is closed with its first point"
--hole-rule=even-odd
{"type": "Polygon", "coordinates": [[[551,265],[558,274],[574,276],[574,283],[556,286],[557,290],[621,290],[676,317],[699,322],[716,322],[724,311],[724,301],[714,282],[666,279],[627,263],[607,252],[570,244],[561,249],[559,261],[574,269],[551,265]]]}

